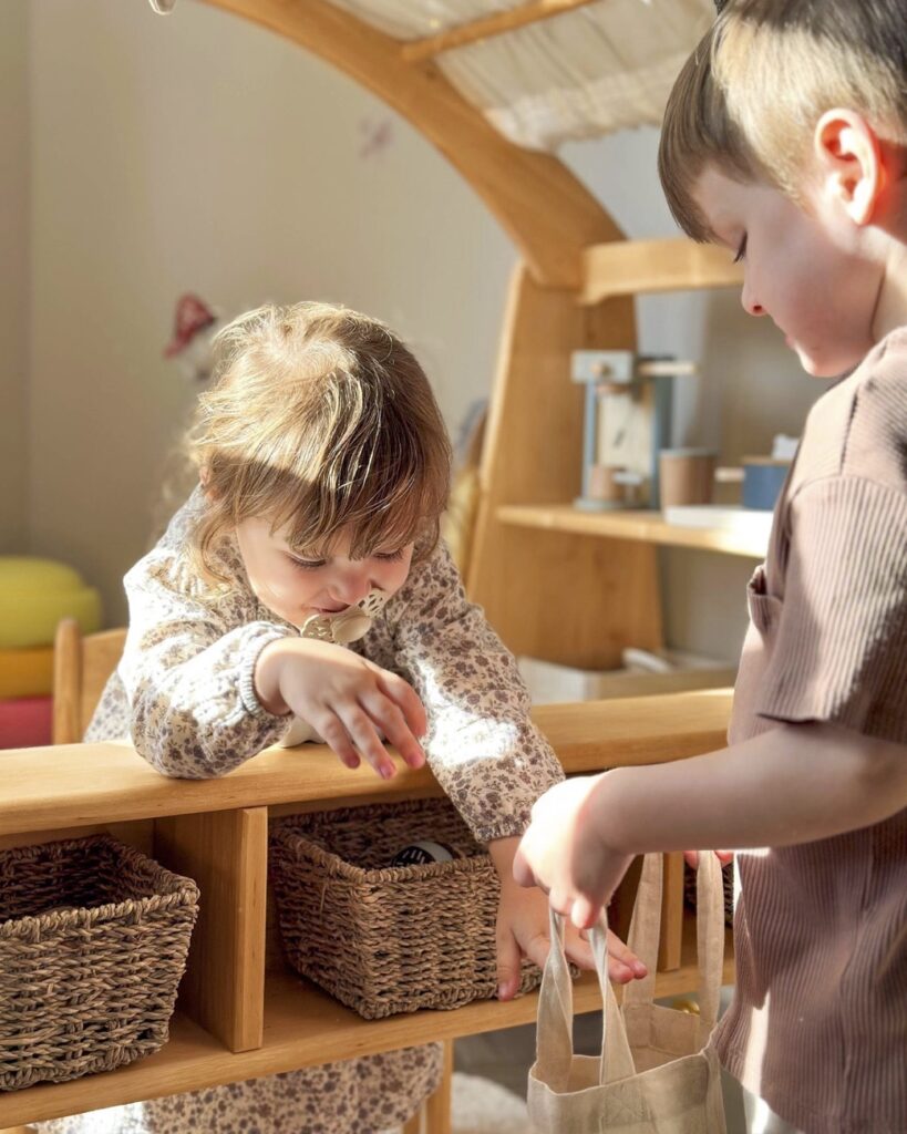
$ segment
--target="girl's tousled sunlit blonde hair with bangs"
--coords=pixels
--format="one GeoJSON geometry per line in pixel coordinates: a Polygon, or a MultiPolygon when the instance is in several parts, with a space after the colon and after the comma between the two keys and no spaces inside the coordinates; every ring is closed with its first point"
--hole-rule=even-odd
{"type": "Polygon", "coordinates": [[[351,555],[439,538],[450,442],[422,366],[383,323],[321,303],[268,305],[214,339],[214,384],[187,437],[207,505],[194,531],[203,573],[240,521],[287,528],[291,547],[351,555]]]}

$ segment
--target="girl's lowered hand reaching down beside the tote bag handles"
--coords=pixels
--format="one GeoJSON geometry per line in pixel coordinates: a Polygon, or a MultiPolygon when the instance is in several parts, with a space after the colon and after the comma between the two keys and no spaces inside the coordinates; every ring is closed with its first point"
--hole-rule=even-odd
{"type": "MultiPolygon", "coordinates": [[[[489,844],[501,881],[495,940],[498,946],[498,999],[511,1000],[519,988],[520,958],[526,956],[540,968],[548,959],[548,903],[541,890],[523,889],[514,881],[514,856],[519,839],[494,839],[489,844]]],[[[566,928],[567,958],[580,968],[594,968],[592,949],[573,925],[566,928]]],[[[646,974],[646,967],[614,933],[608,932],[608,972],[612,981],[627,984],[646,974]]]]}

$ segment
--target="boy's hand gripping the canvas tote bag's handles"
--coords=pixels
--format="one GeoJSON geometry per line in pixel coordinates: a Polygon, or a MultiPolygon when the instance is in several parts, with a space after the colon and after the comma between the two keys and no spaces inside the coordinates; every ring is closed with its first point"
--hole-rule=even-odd
{"type": "Polygon", "coordinates": [[[608,846],[592,813],[607,776],[577,776],[546,792],[514,860],[516,881],[545,890],[551,907],[577,929],[595,924],[633,861],[608,846]]]}

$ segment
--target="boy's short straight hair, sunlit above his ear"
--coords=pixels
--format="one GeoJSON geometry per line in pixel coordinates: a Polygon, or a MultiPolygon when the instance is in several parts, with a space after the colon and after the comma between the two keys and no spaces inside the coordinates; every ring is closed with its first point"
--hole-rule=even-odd
{"type": "Polygon", "coordinates": [[[659,175],[678,225],[713,240],[693,197],[706,166],[803,203],[815,125],[842,107],[907,143],[904,0],[730,0],[675,83],[659,175]]]}

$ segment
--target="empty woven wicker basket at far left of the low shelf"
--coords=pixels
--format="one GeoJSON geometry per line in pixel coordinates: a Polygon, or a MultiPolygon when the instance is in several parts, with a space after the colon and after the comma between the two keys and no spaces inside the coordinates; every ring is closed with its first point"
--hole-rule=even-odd
{"type": "Polygon", "coordinates": [[[0,1090],[167,1042],[198,888],[105,835],[0,853],[0,1090]]]}

